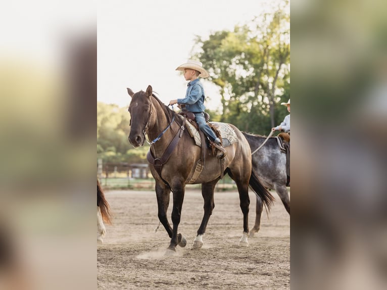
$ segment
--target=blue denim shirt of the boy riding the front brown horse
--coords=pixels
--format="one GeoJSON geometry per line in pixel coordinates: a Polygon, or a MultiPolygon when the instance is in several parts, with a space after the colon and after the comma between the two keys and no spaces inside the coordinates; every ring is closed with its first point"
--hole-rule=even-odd
{"type": "Polygon", "coordinates": [[[204,89],[199,78],[190,81],[187,84],[185,98],[177,99],[177,104],[185,105],[185,108],[189,112],[199,113],[206,110],[206,107],[204,106],[204,89]]]}

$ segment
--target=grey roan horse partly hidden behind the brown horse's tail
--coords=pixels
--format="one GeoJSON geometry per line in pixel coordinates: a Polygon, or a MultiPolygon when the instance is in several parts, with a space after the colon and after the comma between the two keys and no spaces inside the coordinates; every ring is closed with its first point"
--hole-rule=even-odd
{"type": "MultiPolygon", "coordinates": [[[[254,152],[265,141],[266,137],[243,133],[254,152]]],[[[268,189],[275,189],[286,211],[290,214],[290,201],[286,189],[286,154],[282,153],[274,137],[267,140],[264,146],[252,155],[252,170],[259,176],[262,184],[268,189]]],[[[255,225],[250,236],[259,231],[263,203],[257,195],[255,225]]]]}

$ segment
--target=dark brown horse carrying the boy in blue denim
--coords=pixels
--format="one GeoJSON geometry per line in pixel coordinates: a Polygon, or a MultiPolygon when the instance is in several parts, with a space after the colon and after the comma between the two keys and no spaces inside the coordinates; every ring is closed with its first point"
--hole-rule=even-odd
{"type": "MultiPolygon", "coordinates": [[[[127,89],[132,97],[128,111],[130,113],[129,142],[135,147],[143,145],[146,135],[151,141],[151,148],[148,156],[154,158],[151,163],[151,173],[156,181],[156,197],[158,205],[158,217],[171,238],[166,254],[172,255],[176,252],[176,246],[185,247],[185,237],[178,233],[181,208],[184,199],[185,184],[188,184],[188,176],[192,176],[196,164],[202,158],[201,148],[196,146],[190,135],[184,130],[179,115],[165,106],[153,94],[152,86],[146,91],[134,93],[127,89]],[[174,141],[177,140],[177,143],[174,141]],[[173,158],[165,157],[165,152],[170,152],[171,147],[173,158]],[[157,164],[156,164],[157,163],[157,164]],[[152,165],[160,165],[157,170],[152,165]],[[158,171],[161,173],[159,175],[158,171]],[[173,194],[172,223],[170,226],[167,218],[170,192],[173,194]]],[[[233,125],[230,127],[235,131],[238,141],[226,147],[227,156],[224,159],[225,172],[235,181],[239,192],[240,208],[243,212],[243,236],[239,245],[248,246],[248,214],[249,214],[249,181],[250,186],[260,196],[267,208],[270,208],[274,198],[270,192],[262,186],[255,175],[251,177],[251,150],[244,135],[233,125]]],[[[205,167],[196,181],[189,184],[202,184],[202,196],[204,199],[204,215],[198,229],[197,236],[193,241],[193,248],[203,246],[203,235],[206,231],[208,220],[214,209],[214,189],[220,179],[220,161],[216,159],[212,151],[206,149],[205,167]]],[[[149,159],[148,159],[149,161],[149,159]]]]}

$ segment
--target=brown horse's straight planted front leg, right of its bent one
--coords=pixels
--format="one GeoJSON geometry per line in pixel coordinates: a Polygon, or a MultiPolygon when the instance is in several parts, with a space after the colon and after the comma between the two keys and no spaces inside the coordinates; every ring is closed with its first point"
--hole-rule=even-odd
{"type": "Polygon", "coordinates": [[[184,184],[178,183],[172,186],[173,192],[173,208],[172,208],[172,237],[168,250],[176,252],[176,246],[184,247],[186,240],[181,234],[177,234],[177,228],[180,223],[181,209],[184,200],[184,184]]]}

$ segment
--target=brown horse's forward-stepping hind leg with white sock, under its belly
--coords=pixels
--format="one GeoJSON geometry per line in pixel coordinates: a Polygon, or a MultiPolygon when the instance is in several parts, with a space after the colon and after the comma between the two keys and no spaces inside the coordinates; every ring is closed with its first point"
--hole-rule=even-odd
{"type": "Polygon", "coordinates": [[[200,249],[203,246],[203,235],[206,232],[207,224],[212,214],[212,211],[215,207],[214,203],[214,190],[215,185],[219,179],[216,179],[209,183],[202,184],[202,196],[204,200],[204,215],[202,219],[202,223],[198,229],[197,236],[195,240],[193,240],[193,249],[200,249]]]}

